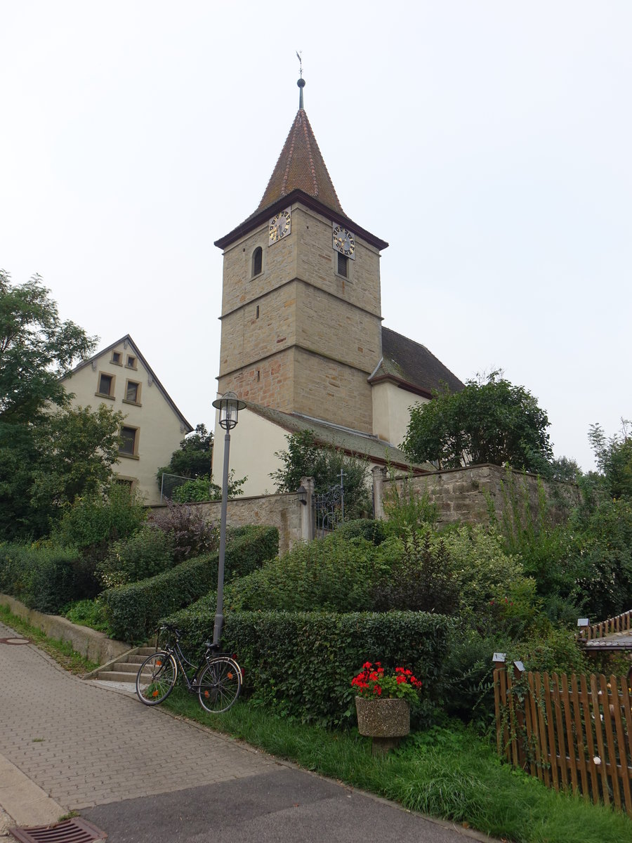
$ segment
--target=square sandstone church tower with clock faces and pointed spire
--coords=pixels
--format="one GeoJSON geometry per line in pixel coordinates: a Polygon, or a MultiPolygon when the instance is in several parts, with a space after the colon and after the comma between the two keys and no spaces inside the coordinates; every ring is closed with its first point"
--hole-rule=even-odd
{"type": "Polygon", "coordinates": [[[218,392],[372,433],[380,250],[346,216],[303,108],[256,211],[223,250],[218,392]]]}

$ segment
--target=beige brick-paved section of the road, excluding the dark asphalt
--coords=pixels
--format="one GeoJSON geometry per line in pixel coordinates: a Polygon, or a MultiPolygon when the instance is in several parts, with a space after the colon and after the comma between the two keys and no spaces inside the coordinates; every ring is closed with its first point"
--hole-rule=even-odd
{"type": "MultiPolygon", "coordinates": [[[[0,639],[15,634],[0,624],[0,639]]],[[[0,645],[0,675],[0,754],[65,810],[255,776],[275,764],[136,696],[83,682],[31,645],[0,645]]]]}

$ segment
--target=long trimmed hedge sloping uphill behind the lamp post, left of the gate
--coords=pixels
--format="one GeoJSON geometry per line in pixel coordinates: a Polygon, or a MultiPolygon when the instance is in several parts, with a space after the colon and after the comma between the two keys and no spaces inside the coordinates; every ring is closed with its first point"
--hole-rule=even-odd
{"type": "MultiPolygon", "coordinates": [[[[263,564],[279,546],[276,527],[240,527],[228,535],[224,577],[240,577],[263,564]]],[[[200,599],[217,588],[217,551],[181,562],[140,583],[109,588],[102,595],[106,615],[116,638],[147,641],[158,620],[200,599]]]]}

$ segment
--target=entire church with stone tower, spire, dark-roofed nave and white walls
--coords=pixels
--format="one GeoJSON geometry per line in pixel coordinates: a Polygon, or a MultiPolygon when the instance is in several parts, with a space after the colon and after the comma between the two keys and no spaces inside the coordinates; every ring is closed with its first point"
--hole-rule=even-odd
{"type": "MultiPolygon", "coordinates": [[[[463,388],[425,346],[383,328],[380,253],[388,243],[340,205],[303,107],[304,85],[300,79],[297,115],[259,206],[215,243],[223,251],[218,393],[247,404],[231,466],[248,476],[250,495],[271,491],[275,451],[305,420],[324,442],[343,438],[340,447],[373,464],[405,465],[398,445],[410,406],[442,384],[463,388]]],[[[216,421],[216,478],[222,454],[216,421]]]]}

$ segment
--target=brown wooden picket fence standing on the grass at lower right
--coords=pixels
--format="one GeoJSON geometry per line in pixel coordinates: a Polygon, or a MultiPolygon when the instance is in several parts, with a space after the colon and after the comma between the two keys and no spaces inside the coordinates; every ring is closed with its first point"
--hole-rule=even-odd
{"type": "Polygon", "coordinates": [[[498,752],[555,790],[632,817],[632,693],[625,677],[494,671],[498,752]]]}

